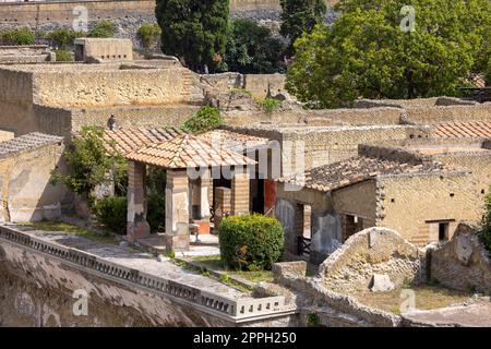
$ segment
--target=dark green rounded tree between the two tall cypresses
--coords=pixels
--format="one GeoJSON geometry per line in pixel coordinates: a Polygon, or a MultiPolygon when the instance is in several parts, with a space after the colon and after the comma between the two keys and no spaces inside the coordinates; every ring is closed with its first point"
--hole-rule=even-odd
{"type": "Polygon", "coordinates": [[[230,21],[224,70],[243,74],[283,72],[286,45],[270,28],[250,19],[230,21]]]}

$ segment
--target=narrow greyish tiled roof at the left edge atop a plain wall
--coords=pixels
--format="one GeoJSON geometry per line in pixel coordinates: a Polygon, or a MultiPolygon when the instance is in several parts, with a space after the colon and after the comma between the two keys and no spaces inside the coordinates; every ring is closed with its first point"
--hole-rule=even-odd
{"type": "Polygon", "coordinates": [[[12,156],[26,151],[34,151],[45,145],[61,143],[63,137],[33,132],[0,143],[0,158],[12,156]]]}

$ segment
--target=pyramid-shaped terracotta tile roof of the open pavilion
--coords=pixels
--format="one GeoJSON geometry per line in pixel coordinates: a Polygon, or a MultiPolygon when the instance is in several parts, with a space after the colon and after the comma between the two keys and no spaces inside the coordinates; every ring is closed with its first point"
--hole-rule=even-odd
{"type": "Polygon", "coordinates": [[[241,154],[216,147],[197,136],[182,134],[127,155],[130,160],[167,169],[255,165],[241,154]]]}

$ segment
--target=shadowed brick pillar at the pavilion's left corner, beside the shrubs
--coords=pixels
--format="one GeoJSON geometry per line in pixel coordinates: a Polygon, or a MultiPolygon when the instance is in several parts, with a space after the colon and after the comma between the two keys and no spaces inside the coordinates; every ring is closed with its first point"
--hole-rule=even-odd
{"type": "Polygon", "coordinates": [[[146,221],[146,166],[130,161],[128,166],[128,225],[127,239],[130,242],[149,236],[146,221]]]}

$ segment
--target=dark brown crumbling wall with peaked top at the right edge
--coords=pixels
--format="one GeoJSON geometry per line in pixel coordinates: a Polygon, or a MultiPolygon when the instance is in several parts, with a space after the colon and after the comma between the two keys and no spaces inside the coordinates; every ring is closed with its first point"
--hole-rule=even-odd
{"type": "Polygon", "coordinates": [[[489,294],[489,253],[468,228],[459,228],[450,242],[431,252],[431,277],[450,288],[489,294]]]}

